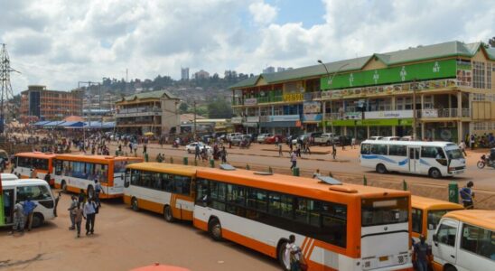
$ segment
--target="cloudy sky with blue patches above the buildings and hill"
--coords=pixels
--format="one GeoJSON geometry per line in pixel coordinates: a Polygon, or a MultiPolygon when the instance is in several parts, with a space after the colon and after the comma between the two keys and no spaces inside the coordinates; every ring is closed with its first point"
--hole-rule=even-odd
{"type": "Polygon", "coordinates": [[[495,35],[492,0],[0,0],[14,93],[28,84],[259,73],[495,35]]]}

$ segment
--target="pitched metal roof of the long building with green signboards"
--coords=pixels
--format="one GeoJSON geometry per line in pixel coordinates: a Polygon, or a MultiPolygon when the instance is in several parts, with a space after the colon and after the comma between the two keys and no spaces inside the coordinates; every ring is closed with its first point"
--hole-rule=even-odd
{"type": "MultiPolygon", "coordinates": [[[[444,42],[427,46],[417,46],[415,48],[409,48],[400,51],[391,51],[386,53],[375,53],[370,56],[360,57],[356,59],[350,59],[346,61],[335,61],[325,63],[328,72],[333,73],[336,71],[350,71],[361,70],[364,65],[373,57],[378,58],[385,65],[395,65],[400,63],[423,61],[428,59],[437,59],[442,57],[451,56],[467,56],[472,57],[479,49],[482,43],[463,43],[463,42],[444,42]]],[[[486,49],[491,60],[495,60],[495,50],[486,49]]],[[[326,70],[322,64],[313,66],[298,68],[294,70],[285,70],[275,73],[262,73],[258,76],[242,80],[235,85],[229,87],[229,89],[240,89],[246,87],[253,87],[256,85],[257,80],[263,78],[268,84],[274,84],[277,82],[295,80],[295,79],[307,79],[311,77],[318,77],[326,74],[326,70]]]]}

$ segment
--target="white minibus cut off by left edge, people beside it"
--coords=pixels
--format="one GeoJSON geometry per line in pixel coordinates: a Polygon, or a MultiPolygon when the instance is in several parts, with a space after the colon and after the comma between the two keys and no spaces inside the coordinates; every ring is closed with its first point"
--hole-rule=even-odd
{"type": "Polygon", "coordinates": [[[4,190],[4,226],[14,224],[14,205],[28,196],[38,206],[34,209],[33,228],[42,226],[45,220],[53,220],[56,216],[56,204],[50,185],[41,179],[19,179],[3,181],[4,190]]]}

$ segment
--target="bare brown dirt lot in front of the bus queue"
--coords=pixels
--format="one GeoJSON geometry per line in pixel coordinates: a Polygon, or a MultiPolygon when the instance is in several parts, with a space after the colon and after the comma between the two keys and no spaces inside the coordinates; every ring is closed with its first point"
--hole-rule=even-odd
{"type": "MultiPolygon", "coordinates": [[[[70,195],[59,217],[23,236],[0,229],[4,270],[129,270],[155,262],[191,270],[279,270],[275,259],[228,241],[215,242],[191,223],[167,223],[160,215],[104,201],[94,236],[69,230],[70,195]]],[[[84,221],[83,221],[84,223],[84,221]]]]}

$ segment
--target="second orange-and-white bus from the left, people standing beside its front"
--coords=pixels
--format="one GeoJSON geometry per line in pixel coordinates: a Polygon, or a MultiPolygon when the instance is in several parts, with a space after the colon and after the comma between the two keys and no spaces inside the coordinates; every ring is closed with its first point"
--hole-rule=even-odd
{"type": "Polygon", "coordinates": [[[95,180],[103,191],[101,199],[118,198],[124,195],[126,165],[143,162],[143,158],[91,154],[58,154],[53,160],[55,187],[64,192],[79,192],[81,189],[94,196],[95,180]]]}

